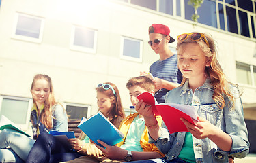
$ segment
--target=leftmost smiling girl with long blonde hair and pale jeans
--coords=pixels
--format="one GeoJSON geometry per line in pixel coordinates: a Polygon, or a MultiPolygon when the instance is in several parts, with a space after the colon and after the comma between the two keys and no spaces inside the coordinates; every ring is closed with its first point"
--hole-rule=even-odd
{"type": "Polygon", "coordinates": [[[38,135],[49,130],[68,131],[68,117],[61,104],[55,102],[53,84],[48,75],[38,74],[31,85],[33,107],[31,124],[33,139],[12,129],[0,133],[0,162],[25,162],[38,135]]]}

